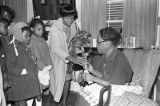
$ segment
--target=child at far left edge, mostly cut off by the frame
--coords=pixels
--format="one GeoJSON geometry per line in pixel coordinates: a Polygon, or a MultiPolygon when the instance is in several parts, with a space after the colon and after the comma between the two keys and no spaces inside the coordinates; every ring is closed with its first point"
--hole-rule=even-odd
{"type": "Polygon", "coordinates": [[[7,35],[7,27],[9,23],[6,19],[0,18],[0,104],[6,106],[5,96],[3,88],[7,89],[9,86],[7,78],[6,67],[6,46],[7,41],[5,35],[7,35]]]}

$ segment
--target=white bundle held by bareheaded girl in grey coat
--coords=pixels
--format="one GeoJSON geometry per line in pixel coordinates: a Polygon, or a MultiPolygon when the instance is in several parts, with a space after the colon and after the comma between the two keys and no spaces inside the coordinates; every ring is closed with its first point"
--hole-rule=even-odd
{"type": "Polygon", "coordinates": [[[38,78],[40,81],[40,84],[47,86],[49,85],[49,80],[50,80],[50,75],[49,75],[49,71],[51,70],[52,66],[45,66],[43,68],[43,70],[38,72],[38,78]]]}

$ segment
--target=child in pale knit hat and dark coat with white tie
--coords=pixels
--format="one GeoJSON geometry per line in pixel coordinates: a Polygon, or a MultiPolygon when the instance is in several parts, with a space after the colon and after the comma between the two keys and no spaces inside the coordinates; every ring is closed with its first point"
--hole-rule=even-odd
{"type": "Polygon", "coordinates": [[[13,40],[6,52],[8,79],[11,88],[7,90],[8,101],[16,106],[27,106],[27,100],[40,95],[37,68],[29,48],[30,28],[23,22],[12,25],[9,33],[13,40]]]}

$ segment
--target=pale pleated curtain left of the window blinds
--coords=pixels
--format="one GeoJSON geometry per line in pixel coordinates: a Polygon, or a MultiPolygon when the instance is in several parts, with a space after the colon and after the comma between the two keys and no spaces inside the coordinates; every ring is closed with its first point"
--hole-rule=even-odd
{"type": "Polygon", "coordinates": [[[106,26],[106,0],[82,0],[81,3],[82,30],[96,38],[99,30],[106,26]]]}

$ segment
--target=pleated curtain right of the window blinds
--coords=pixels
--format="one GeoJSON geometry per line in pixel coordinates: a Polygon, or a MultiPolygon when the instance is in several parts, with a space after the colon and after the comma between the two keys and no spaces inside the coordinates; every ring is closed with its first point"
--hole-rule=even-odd
{"type": "Polygon", "coordinates": [[[124,0],[124,36],[134,35],[136,47],[156,42],[157,0],[124,0]]]}

